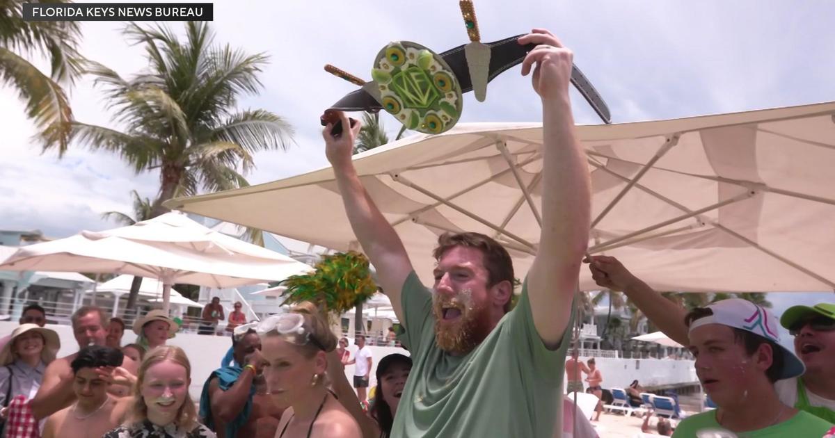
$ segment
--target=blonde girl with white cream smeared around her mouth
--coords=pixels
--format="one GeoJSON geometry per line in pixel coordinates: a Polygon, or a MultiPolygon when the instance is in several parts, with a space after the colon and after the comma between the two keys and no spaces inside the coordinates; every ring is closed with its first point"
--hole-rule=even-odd
{"type": "Polygon", "coordinates": [[[150,350],[139,365],[128,421],[102,438],[215,438],[215,432],[197,422],[190,383],[191,365],[180,347],[150,350]]]}

